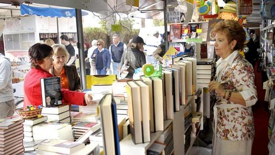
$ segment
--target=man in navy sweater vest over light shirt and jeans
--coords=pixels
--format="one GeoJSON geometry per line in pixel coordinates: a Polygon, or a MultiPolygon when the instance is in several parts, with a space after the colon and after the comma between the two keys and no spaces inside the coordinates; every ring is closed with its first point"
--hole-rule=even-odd
{"type": "Polygon", "coordinates": [[[119,34],[113,35],[113,44],[109,47],[109,52],[111,55],[111,62],[113,62],[113,74],[119,76],[120,61],[123,52],[127,49],[126,44],[119,41],[119,34]]]}

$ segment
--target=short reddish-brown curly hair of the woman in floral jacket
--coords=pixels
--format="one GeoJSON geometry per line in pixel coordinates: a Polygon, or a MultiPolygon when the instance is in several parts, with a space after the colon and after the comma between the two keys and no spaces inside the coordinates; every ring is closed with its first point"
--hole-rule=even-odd
{"type": "Polygon", "coordinates": [[[233,20],[223,20],[217,23],[217,25],[214,27],[213,32],[217,34],[217,32],[223,32],[228,42],[230,43],[232,40],[236,40],[237,44],[234,47],[234,50],[242,50],[245,39],[246,39],[246,33],[244,29],[242,28],[242,25],[240,25],[238,22],[233,20]]]}

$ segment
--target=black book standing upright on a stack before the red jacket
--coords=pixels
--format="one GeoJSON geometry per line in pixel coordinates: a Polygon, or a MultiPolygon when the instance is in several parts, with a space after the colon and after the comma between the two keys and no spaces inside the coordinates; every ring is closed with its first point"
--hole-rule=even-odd
{"type": "Polygon", "coordinates": [[[53,107],[62,105],[62,92],[60,77],[42,78],[41,94],[42,105],[44,107],[53,107]]]}

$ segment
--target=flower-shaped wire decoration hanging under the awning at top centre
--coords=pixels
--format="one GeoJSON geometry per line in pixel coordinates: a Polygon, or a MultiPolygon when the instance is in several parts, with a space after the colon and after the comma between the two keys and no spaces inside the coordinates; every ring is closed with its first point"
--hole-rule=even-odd
{"type": "Polygon", "coordinates": [[[126,3],[125,0],[107,0],[108,9],[99,10],[96,12],[97,14],[88,8],[89,3],[92,3],[92,0],[82,2],[82,5],[92,12],[94,16],[106,21],[105,26],[109,33],[112,32],[112,27],[114,28],[112,25],[116,24],[121,25],[121,27],[132,33],[131,21],[128,15],[132,10],[132,5],[126,3]]]}

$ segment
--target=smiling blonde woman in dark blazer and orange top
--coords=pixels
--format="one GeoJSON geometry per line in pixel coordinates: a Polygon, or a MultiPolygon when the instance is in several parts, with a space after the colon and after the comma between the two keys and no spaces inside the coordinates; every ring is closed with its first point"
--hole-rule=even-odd
{"type": "Polygon", "coordinates": [[[75,65],[65,65],[70,58],[70,54],[61,44],[53,46],[53,68],[49,72],[53,76],[61,77],[61,86],[63,89],[80,91],[80,78],[75,65]]]}

